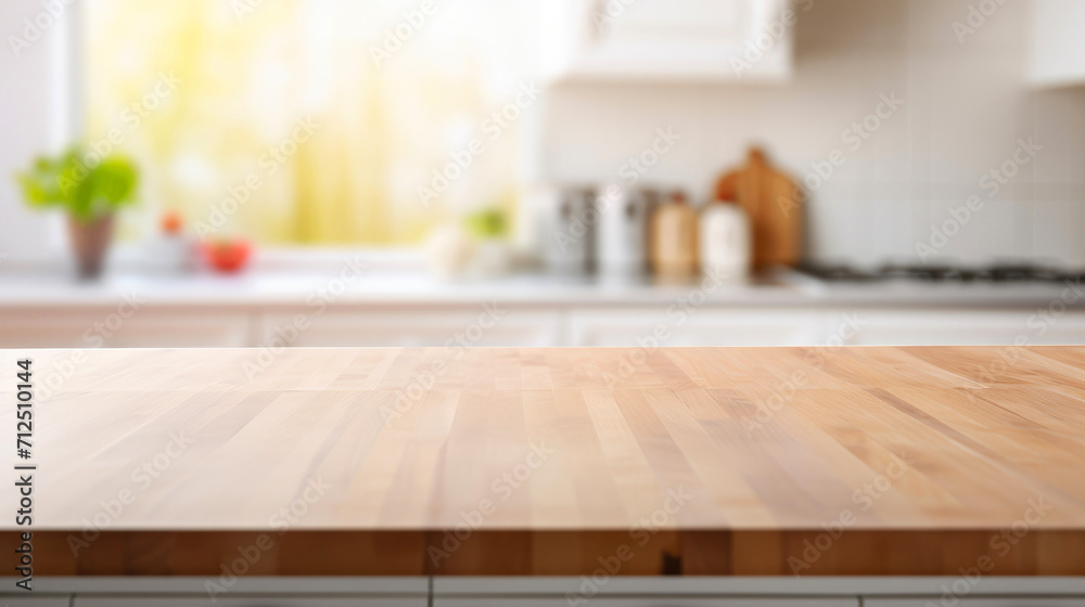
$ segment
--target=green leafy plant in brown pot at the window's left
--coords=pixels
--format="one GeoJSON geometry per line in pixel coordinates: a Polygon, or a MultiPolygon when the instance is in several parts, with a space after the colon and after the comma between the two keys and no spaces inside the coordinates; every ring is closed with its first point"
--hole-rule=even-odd
{"type": "Polygon", "coordinates": [[[74,146],[59,156],[38,156],[29,169],[17,176],[31,207],[62,207],[67,212],[68,237],[79,275],[85,279],[102,272],[102,260],[113,236],[114,214],[135,202],[138,180],[136,167],[127,157],[114,154],[98,158],[74,146]]]}

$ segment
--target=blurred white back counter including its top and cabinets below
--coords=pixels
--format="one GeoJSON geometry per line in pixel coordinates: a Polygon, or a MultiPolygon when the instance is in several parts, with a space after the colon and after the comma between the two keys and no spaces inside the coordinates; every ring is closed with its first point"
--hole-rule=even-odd
{"type": "Polygon", "coordinates": [[[1080,284],[0,276],[0,348],[1085,344],[1080,284]]]}

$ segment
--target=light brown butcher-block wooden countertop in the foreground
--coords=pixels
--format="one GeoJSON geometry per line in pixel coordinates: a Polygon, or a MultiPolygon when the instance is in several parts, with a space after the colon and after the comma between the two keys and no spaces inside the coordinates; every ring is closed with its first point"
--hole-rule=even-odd
{"type": "Polygon", "coordinates": [[[1085,574],[1085,347],[26,357],[39,574],[1085,574]]]}

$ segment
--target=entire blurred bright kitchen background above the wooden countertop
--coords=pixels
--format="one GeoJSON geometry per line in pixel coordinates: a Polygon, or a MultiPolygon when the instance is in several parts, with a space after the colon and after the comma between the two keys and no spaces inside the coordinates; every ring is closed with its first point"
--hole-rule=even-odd
{"type": "Polygon", "coordinates": [[[5,1],[0,347],[1083,344],[1083,30],[1080,0],[5,1]]]}

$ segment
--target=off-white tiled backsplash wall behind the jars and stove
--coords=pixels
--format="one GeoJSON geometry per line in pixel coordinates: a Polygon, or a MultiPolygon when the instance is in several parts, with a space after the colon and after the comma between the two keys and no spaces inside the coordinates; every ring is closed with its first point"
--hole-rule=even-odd
{"type": "Polygon", "coordinates": [[[1001,4],[960,43],[953,22],[967,15],[968,0],[818,0],[799,24],[787,85],[563,87],[552,95],[544,175],[613,179],[661,126],[684,140],[646,182],[681,184],[695,198],[751,144],[800,181],[812,163],[845,147],[847,162],[807,205],[815,259],[918,259],[915,245],[929,242],[932,223],[980,195],[983,209],[937,260],[1085,260],[1085,238],[1071,236],[1085,232],[1085,88],[1025,86],[1025,4],[1001,4]],[[847,148],[842,133],[881,93],[905,104],[847,148]],[[1043,151],[991,195],[980,179],[1030,138],[1043,151]]]}

